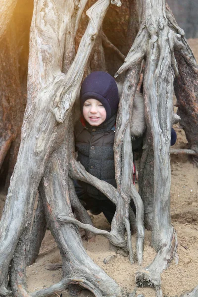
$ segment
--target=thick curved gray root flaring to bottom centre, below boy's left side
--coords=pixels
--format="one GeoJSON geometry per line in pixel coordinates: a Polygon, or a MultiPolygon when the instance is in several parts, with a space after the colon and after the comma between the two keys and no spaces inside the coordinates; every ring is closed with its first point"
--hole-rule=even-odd
{"type": "Polygon", "coordinates": [[[96,297],[119,296],[119,287],[115,281],[85,252],[78,229],[71,224],[59,224],[56,220],[60,213],[73,218],[67,186],[68,151],[63,144],[54,152],[40,186],[46,219],[62,256],[63,278],[70,278],[70,284],[78,283],[96,297]]]}

